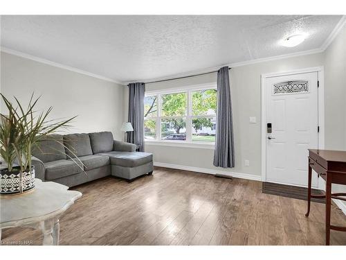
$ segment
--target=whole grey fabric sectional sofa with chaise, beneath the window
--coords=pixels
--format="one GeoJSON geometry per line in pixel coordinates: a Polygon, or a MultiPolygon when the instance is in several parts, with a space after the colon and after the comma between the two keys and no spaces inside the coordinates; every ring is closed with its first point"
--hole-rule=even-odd
{"type": "Polygon", "coordinates": [[[107,175],[131,181],[153,171],[152,154],[135,150],[134,144],[113,140],[111,132],[51,135],[33,150],[33,165],[39,179],[68,187],[107,175]]]}

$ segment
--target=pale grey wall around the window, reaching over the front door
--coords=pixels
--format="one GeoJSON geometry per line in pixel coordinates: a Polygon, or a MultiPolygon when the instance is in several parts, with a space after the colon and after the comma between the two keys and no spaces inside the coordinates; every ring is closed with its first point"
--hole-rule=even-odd
{"type": "MultiPolygon", "coordinates": [[[[323,65],[323,53],[304,55],[282,60],[235,67],[230,70],[230,89],[233,102],[233,125],[235,132],[235,168],[222,169],[212,165],[214,150],[202,148],[178,148],[146,145],[148,152],[154,153],[154,162],[178,164],[182,166],[205,168],[206,171],[224,171],[261,175],[261,74],[291,71],[323,65]],[[257,123],[249,123],[249,116],[256,116],[257,123]],[[250,166],[244,165],[244,160],[250,166]]],[[[146,89],[169,89],[172,87],[215,83],[216,73],[147,84],[146,89]]]]}

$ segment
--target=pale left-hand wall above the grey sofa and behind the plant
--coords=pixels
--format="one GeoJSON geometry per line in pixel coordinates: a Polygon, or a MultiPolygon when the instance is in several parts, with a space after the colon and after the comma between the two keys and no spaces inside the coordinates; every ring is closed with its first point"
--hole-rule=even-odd
{"type": "MultiPolygon", "coordinates": [[[[109,130],[116,139],[124,120],[124,86],[1,52],[1,93],[27,103],[42,95],[37,110],[53,106],[51,119],[78,115],[69,132],[109,130]]],[[[2,104],[2,111],[5,107],[2,104]]]]}

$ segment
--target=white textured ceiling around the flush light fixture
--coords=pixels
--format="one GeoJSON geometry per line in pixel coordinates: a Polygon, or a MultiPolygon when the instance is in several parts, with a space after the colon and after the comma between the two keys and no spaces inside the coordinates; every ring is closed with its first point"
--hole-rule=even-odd
{"type": "Polygon", "coordinates": [[[341,16],[2,16],[1,46],[119,81],[319,48],[341,16]],[[306,33],[293,48],[284,37],[306,33]]]}

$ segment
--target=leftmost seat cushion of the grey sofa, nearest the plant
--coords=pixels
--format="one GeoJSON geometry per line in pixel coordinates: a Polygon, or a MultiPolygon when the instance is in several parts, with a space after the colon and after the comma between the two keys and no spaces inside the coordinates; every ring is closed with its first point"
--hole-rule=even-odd
{"type": "Polygon", "coordinates": [[[83,171],[82,164],[73,162],[71,159],[47,162],[44,166],[46,166],[46,180],[55,180],[83,171]]]}

